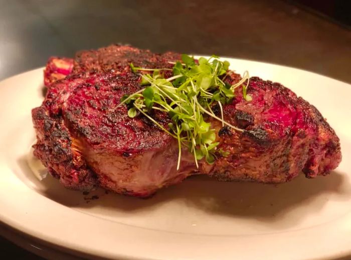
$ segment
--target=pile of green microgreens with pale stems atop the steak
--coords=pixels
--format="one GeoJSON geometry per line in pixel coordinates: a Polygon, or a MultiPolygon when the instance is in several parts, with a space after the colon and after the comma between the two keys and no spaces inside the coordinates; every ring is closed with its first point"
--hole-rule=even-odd
{"type": "Polygon", "coordinates": [[[219,142],[216,141],[215,129],[211,128],[211,123],[205,121],[204,114],[221,121],[223,126],[243,131],[224,120],[223,105],[232,102],[235,96],[234,90],[240,85],[243,88],[244,98],[251,100],[251,96],[246,94],[249,83],[248,72],[244,73],[239,82],[230,85],[224,82],[230,64],[226,60],[219,60],[216,55],[210,58],[200,57],[196,62],[193,57],[182,54],[182,62],[172,64],[174,64],[173,76],[164,78],[160,70],[169,70],[168,68],[141,68],[130,63],[133,72],[145,70],[152,73],[142,74],[141,85],[145,85],[145,88],[131,95],[124,95],[119,105],[123,103],[129,105],[129,117],[141,113],[162,130],[177,138],[179,146],[177,169],[180,167],[182,146],[188,146],[189,151],[194,154],[197,167],[198,160],[203,158],[208,163],[213,163],[217,154],[227,156],[227,151],[217,149],[219,142]],[[221,117],[212,110],[216,103],[220,107],[221,117]],[[172,119],[168,129],[148,114],[151,109],[168,113],[172,119]]]}

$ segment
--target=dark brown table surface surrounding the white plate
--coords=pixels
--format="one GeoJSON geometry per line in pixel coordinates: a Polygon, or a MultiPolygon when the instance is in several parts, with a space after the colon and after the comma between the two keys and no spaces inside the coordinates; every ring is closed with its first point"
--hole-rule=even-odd
{"type": "MultiPolygon", "coordinates": [[[[298,67],[351,82],[351,31],[285,1],[0,0],[0,79],[50,55],[129,43],[298,67]]],[[[5,255],[40,259],[0,239],[5,255]]]]}

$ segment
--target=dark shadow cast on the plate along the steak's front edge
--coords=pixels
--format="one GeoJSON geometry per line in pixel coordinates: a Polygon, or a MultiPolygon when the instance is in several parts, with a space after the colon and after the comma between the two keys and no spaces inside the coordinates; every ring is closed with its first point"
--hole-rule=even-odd
{"type": "MultiPolygon", "coordinates": [[[[153,197],[140,199],[114,193],[103,189],[82,194],[64,188],[51,176],[39,181],[32,173],[25,157],[19,164],[32,188],[46,197],[69,207],[107,207],[119,211],[135,212],[152,210],[156,207],[178,200],[189,207],[196,207],[211,213],[253,217],[262,220],[279,218],[292,213],[297,207],[306,207],[316,212],[332,197],[333,200],[346,200],[351,195],[350,183],[345,173],[331,172],[328,176],[307,179],[300,174],[290,182],[273,185],[251,182],[220,182],[213,178],[192,176],[180,184],[163,188],[153,197]]],[[[28,184],[28,183],[27,183],[28,184]]],[[[300,211],[299,211],[300,212],[300,211]]],[[[296,216],[303,217],[301,216],[296,216]]],[[[296,218],[295,217],[295,218],[296,218]]]]}

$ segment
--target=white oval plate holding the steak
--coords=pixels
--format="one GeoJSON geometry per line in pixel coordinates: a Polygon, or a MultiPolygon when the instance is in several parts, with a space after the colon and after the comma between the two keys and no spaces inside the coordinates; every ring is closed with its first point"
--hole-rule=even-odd
{"type": "Polygon", "coordinates": [[[303,70],[228,59],[238,72],[283,83],[336,130],[343,160],[326,177],[281,185],[192,177],[139,199],[88,197],[47,177],[26,156],[35,139],[42,68],[0,83],[0,220],[75,253],[119,259],[331,259],[351,255],[351,87],[303,70]]]}

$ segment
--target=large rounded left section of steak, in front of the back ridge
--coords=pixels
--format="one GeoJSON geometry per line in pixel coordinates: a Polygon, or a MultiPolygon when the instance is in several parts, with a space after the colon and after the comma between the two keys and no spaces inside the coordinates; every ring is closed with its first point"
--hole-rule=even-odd
{"type": "MultiPolygon", "coordinates": [[[[177,171],[178,146],[171,136],[142,116],[129,118],[125,106],[116,109],[123,94],[140,89],[139,81],[132,72],[68,77],[33,109],[35,155],[64,185],[148,196],[193,171],[191,156],[177,171]]],[[[164,114],[153,117],[167,127],[164,114]]]]}

